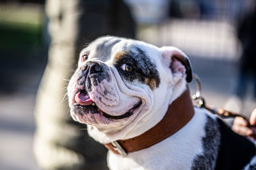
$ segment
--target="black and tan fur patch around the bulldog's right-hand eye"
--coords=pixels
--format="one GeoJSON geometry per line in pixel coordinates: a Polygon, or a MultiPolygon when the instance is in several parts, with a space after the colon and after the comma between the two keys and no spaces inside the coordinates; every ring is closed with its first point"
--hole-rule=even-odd
{"type": "Polygon", "coordinates": [[[160,83],[159,73],[147,53],[137,46],[129,49],[132,50],[124,50],[124,55],[114,59],[113,64],[120,76],[127,81],[138,80],[141,83],[144,83],[146,78],[151,78],[156,81],[156,87],[158,87],[160,83]],[[121,68],[125,63],[132,67],[132,71],[124,71],[121,68]]]}

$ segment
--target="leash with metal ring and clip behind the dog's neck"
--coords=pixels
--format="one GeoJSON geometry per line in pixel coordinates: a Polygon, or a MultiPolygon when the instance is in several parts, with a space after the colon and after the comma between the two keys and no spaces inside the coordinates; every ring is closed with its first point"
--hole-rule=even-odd
{"type": "Polygon", "coordinates": [[[244,116],[244,115],[242,115],[242,114],[240,114],[240,113],[235,113],[235,112],[232,112],[232,111],[227,111],[227,110],[224,110],[223,108],[219,108],[218,109],[218,108],[216,108],[214,106],[207,105],[205,103],[204,97],[200,96],[200,92],[201,92],[201,81],[200,81],[200,78],[195,73],[193,73],[193,78],[196,81],[196,94],[194,94],[192,96],[194,106],[196,106],[197,108],[204,108],[205,110],[208,110],[212,114],[218,115],[221,118],[242,117],[246,121],[249,122],[249,118],[244,116]]]}

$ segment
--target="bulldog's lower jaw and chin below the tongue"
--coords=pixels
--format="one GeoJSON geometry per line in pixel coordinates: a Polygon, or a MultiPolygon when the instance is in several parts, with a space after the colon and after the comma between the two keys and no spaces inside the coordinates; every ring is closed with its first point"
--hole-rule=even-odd
{"type": "Polygon", "coordinates": [[[140,108],[141,101],[134,103],[132,108],[129,108],[122,115],[111,115],[111,113],[106,113],[97,107],[97,104],[92,102],[88,106],[83,106],[79,103],[72,104],[70,113],[74,120],[82,124],[88,125],[109,125],[118,124],[120,122],[126,122],[129,118],[136,113],[140,108]]]}

